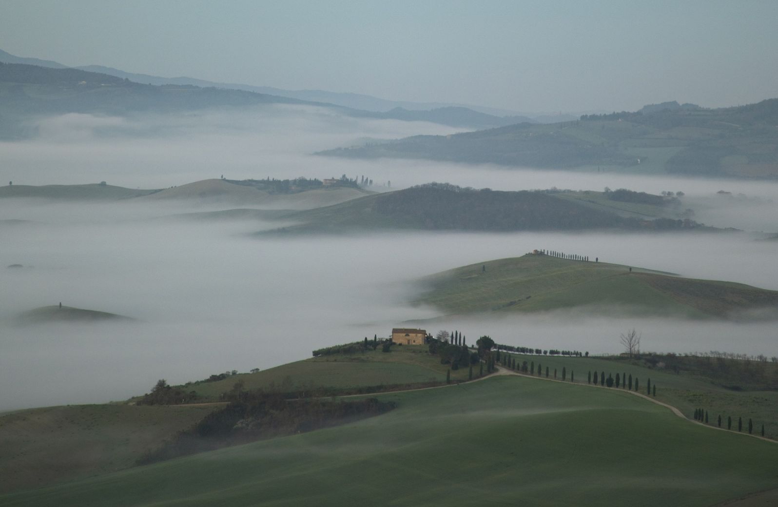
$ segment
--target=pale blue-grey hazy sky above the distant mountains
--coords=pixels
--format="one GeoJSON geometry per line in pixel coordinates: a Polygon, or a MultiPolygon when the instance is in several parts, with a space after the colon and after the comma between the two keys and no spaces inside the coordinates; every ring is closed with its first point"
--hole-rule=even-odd
{"type": "Polygon", "coordinates": [[[778,2],[3,0],[0,49],[65,65],[539,111],[778,96],[778,2]]]}

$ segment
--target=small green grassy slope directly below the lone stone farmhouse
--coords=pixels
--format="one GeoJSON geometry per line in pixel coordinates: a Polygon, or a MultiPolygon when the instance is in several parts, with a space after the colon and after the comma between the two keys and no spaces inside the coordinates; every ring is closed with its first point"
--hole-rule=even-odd
{"type": "MultiPolygon", "coordinates": [[[[366,352],[354,355],[328,355],[305,361],[290,362],[257,373],[230,376],[217,382],[192,383],[182,387],[194,390],[205,400],[217,400],[242,380],[244,388],[302,390],[311,387],[350,388],[391,384],[443,382],[448,366],[437,356],[427,353],[426,345],[395,345],[392,351],[366,352]]],[[[478,369],[474,368],[474,375],[478,369]]],[[[451,379],[467,379],[468,369],[451,372],[451,379]]]]}

